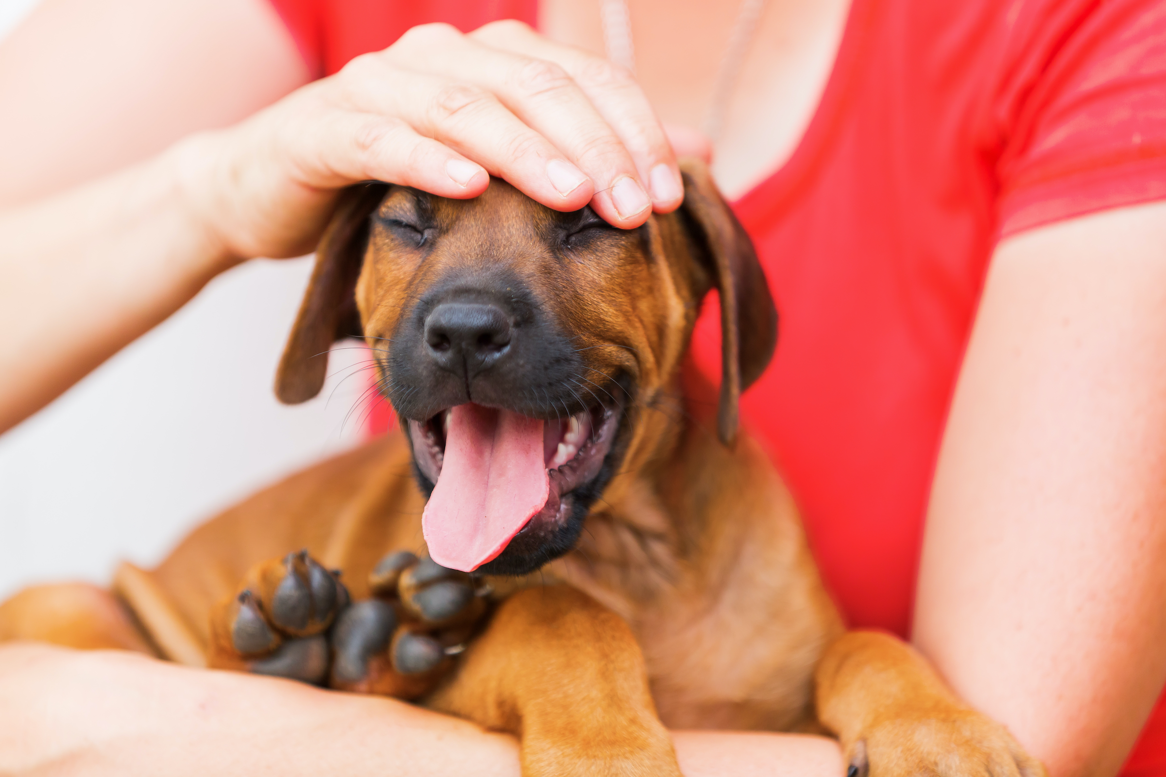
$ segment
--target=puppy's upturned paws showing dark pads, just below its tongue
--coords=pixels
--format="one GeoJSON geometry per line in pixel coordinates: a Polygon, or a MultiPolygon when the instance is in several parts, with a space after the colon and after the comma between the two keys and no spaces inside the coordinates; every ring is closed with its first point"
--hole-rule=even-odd
{"type": "Polygon", "coordinates": [[[258,564],[211,614],[210,665],[414,699],[489,609],[470,575],[408,551],[381,559],[368,588],[351,603],[339,572],[307,551],[258,564]]]}

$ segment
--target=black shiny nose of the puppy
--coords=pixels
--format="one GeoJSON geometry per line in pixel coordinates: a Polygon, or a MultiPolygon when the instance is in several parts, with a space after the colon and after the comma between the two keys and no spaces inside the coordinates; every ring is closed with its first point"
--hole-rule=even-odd
{"type": "Polygon", "coordinates": [[[486,367],[510,348],[510,318],[497,305],[447,302],[426,319],[429,354],[447,369],[486,367]]]}

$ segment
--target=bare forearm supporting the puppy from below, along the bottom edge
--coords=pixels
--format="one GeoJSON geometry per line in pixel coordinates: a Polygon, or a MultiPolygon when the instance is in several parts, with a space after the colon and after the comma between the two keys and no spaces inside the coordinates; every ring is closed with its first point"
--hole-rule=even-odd
{"type": "MultiPolygon", "coordinates": [[[[0,647],[0,772],[10,775],[519,774],[518,743],[393,699],[208,672],[134,654],[0,647]]],[[[677,732],[687,777],[835,777],[823,737],[677,732]]]]}

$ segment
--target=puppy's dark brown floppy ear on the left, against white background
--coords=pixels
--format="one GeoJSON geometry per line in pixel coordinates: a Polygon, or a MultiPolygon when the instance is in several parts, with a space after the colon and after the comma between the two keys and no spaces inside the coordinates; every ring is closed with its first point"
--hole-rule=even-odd
{"type": "Polygon", "coordinates": [[[388,185],[363,183],[340,193],[336,212],[316,247],[316,266],[292,335],[275,373],[275,396],[285,404],[319,394],[328,374],[328,349],[345,337],[360,337],[357,277],[368,242],[368,214],[388,185]]]}

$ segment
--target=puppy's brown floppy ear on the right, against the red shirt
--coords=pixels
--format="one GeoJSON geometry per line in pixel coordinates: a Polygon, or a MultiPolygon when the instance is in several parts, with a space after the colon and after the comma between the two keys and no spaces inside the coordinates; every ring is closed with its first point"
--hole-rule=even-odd
{"type": "Polygon", "coordinates": [[[778,341],[778,311],[753,243],[704,162],[681,160],[689,234],[703,255],[721,294],[721,400],[717,436],[725,445],[737,438],[740,393],[761,376],[778,341]]]}

